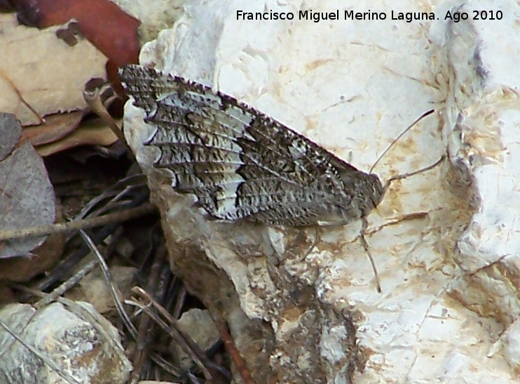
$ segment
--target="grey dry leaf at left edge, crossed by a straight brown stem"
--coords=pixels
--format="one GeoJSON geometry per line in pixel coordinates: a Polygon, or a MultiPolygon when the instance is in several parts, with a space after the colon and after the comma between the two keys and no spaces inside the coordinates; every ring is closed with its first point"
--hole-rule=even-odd
{"type": "MultiPolygon", "coordinates": [[[[20,129],[0,114],[0,137],[20,129]],[[1,124],[3,123],[3,124],[1,124]]],[[[18,139],[17,139],[18,140],[18,139]]],[[[41,157],[26,143],[0,161],[0,228],[14,230],[48,225],[55,220],[55,196],[41,157]]],[[[0,258],[26,255],[45,237],[9,240],[0,244],[0,258]]]]}

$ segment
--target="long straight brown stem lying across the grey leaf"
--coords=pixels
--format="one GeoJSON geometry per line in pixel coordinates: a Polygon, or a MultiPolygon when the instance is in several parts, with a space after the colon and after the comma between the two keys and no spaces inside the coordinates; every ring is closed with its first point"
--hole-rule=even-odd
{"type": "Polygon", "coordinates": [[[0,240],[22,239],[24,237],[43,236],[55,232],[68,232],[73,230],[86,230],[88,228],[100,227],[111,223],[122,223],[152,213],[156,208],[152,204],[146,203],[135,208],[128,208],[122,211],[108,213],[104,216],[85,218],[81,220],[69,221],[67,223],[55,223],[42,225],[40,227],[24,228],[22,230],[2,230],[0,240]]]}

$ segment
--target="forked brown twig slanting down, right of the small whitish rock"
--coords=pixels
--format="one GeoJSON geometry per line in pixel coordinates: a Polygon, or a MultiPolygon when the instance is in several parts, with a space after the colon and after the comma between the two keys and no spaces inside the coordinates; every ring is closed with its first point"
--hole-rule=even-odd
{"type": "Polygon", "coordinates": [[[198,345],[196,345],[193,340],[189,336],[186,335],[186,333],[182,332],[177,328],[177,320],[173,319],[171,315],[165,310],[159,303],[156,302],[144,289],[135,286],[132,291],[134,293],[137,293],[141,298],[144,298],[144,300],[147,300],[159,313],[160,315],[163,315],[165,319],[167,319],[168,322],[170,322],[170,325],[168,325],[163,319],[161,319],[155,312],[151,311],[149,307],[142,305],[139,303],[139,307],[142,307],[142,310],[144,312],[148,313],[150,317],[153,318],[153,320],[167,333],[174,338],[177,343],[184,349],[184,351],[193,359],[193,362],[197,364],[199,369],[203,372],[204,377],[207,380],[210,380],[212,378],[210,371],[208,371],[205,367],[205,363],[207,362],[207,358],[203,350],[200,350],[198,345]]]}

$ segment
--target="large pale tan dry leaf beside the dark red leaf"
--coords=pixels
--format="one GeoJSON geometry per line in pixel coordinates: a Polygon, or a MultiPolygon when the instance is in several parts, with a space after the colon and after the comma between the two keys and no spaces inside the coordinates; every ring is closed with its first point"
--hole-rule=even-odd
{"type": "Polygon", "coordinates": [[[76,44],[68,44],[57,33],[62,29],[25,27],[16,15],[0,15],[0,110],[16,114],[22,126],[83,110],[83,84],[105,77],[105,56],[78,34],[76,44]]]}

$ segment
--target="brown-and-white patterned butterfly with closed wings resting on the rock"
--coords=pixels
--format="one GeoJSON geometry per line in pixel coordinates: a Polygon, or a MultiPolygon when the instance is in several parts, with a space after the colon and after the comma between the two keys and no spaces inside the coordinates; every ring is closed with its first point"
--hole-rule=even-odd
{"type": "Polygon", "coordinates": [[[223,93],[155,69],[120,70],[125,90],[156,126],[172,187],[211,216],[274,225],[343,225],[383,198],[378,176],[223,93]]]}

